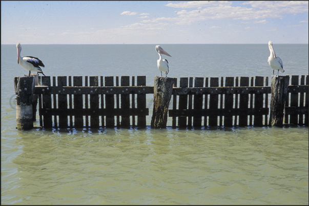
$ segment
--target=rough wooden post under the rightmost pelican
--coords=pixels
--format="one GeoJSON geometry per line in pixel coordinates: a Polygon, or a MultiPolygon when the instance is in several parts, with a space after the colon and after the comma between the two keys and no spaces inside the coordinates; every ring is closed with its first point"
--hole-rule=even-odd
{"type": "Polygon", "coordinates": [[[272,77],[270,114],[270,125],[272,126],[283,126],[285,97],[288,86],[289,79],[285,76],[272,77]]]}

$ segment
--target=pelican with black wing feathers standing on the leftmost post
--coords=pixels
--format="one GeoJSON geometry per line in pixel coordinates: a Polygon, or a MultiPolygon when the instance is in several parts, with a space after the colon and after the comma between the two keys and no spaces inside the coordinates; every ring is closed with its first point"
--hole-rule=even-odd
{"type": "Polygon", "coordinates": [[[31,72],[37,72],[37,74],[42,73],[45,76],[45,74],[42,71],[42,68],[40,68],[40,66],[45,67],[45,65],[41,60],[31,56],[21,57],[20,52],[22,51],[22,46],[20,45],[20,43],[16,44],[16,48],[17,48],[17,63],[20,64],[20,66],[23,66],[27,71],[29,71],[29,76],[31,72]]]}

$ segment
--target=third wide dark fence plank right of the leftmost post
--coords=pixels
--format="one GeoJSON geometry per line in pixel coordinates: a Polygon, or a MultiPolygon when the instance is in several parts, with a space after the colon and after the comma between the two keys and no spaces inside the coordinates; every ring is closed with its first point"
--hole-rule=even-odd
{"type": "MultiPolygon", "coordinates": [[[[83,86],[83,76],[74,76],[73,86],[83,86]]],[[[74,95],[74,109],[77,110],[83,109],[83,95],[74,95]]],[[[77,112],[74,115],[74,127],[75,128],[84,127],[83,115],[81,115],[80,112],[77,112]]]]}

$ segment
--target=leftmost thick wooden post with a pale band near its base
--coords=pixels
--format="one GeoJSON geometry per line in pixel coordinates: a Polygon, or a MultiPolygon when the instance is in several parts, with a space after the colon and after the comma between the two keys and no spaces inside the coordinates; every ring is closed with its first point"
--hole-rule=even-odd
{"type": "Polygon", "coordinates": [[[15,77],[16,122],[18,130],[33,128],[32,95],[34,93],[35,77],[15,77]]]}

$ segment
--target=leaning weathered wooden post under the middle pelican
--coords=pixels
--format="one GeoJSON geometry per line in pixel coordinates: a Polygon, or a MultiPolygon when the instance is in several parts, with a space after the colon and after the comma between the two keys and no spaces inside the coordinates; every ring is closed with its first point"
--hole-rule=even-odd
{"type": "Polygon", "coordinates": [[[151,119],[151,127],[153,128],[166,128],[167,126],[173,84],[173,78],[155,77],[153,115],[151,119]]]}

